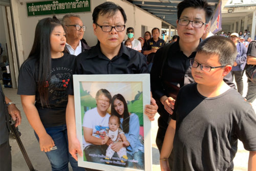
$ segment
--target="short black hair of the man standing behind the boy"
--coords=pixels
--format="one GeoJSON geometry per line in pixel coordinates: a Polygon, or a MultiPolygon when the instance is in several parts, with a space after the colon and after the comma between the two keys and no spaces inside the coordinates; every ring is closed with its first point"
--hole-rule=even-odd
{"type": "Polygon", "coordinates": [[[214,12],[214,10],[212,10],[212,8],[209,6],[209,4],[207,3],[206,0],[184,0],[182,2],[180,2],[177,6],[178,12],[177,12],[177,17],[178,19],[180,19],[181,13],[183,12],[184,9],[186,8],[199,8],[199,9],[203,9],[205,11],[205,19],[206,22],[208,23],[212,13],[214,12]]]}

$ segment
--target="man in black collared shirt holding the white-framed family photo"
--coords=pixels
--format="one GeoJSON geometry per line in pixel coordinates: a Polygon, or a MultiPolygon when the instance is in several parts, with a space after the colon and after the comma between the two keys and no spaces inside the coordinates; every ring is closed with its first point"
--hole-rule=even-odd
{"type": "MultiPolygon", "coordinates": [[[[122,44],[126,20],[124,10],[112,2],[105,2],[94,9],[93,30],[98,38],[98,44],[77,56],[73,74],[147,73],[146,58],[138,51],[122,44]]],[[[82,156],[82,151],[76,136],[73,83],[69,85],[66,111],[69,152],[77,160],[76,154],[82,156]]],[[[145,105],[144,113],[150,120],[154,120],[158,107],[153,98],[151,103],[145,105]]]]}

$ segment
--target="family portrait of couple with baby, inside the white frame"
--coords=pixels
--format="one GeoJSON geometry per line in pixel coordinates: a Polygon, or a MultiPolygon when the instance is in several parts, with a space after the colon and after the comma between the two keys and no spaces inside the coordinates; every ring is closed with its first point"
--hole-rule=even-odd
{"type": "Polygon", "coordinates": [[[145,170],[143,82],[78,82],[84,167],[145,170]]]}

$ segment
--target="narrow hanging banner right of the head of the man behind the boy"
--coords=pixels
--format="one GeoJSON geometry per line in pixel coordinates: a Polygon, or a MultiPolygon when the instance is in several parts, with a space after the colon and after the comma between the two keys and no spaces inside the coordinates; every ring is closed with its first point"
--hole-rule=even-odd
{"type": "Polygon", "coordinates": [[[215,10],[214,16],[211,19],[210,31],[214,34],[219,32],[220,30],[222,30],[222,28],[221,28],[221,20],[222,20],[221,4],[222,4],[222,1],[219,2],[218,7],[215,10]]]}

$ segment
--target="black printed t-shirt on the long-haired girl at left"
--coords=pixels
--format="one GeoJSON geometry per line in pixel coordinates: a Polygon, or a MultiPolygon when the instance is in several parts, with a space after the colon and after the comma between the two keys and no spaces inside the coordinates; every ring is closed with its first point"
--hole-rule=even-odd
{"type": "Polygon", "coordinates": [[[36,58],[28,58],[20,67],[18,77],[19,95],[35,95],[35,106],[42,124],[52,127],[66,124],[66,107],[68,95],[66,89],[73,74],[76,56],[64,54],[60,58],[52,59],[52,68],[46,86],[49,88],[49,106],[42,108],[38,88],[38,63],[36,58]]]}

